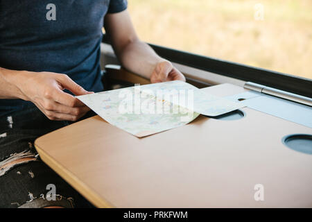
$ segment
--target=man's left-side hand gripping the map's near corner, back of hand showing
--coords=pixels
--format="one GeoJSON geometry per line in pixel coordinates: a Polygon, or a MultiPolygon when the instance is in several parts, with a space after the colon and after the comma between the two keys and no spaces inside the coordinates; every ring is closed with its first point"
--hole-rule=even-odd
{"type": "Polygon", "coordinates": [[[17,84],[22,93],[21,99],[35,103],[51,120],[76,121],[90,110],[62,90],[69,89],[77,96],[93,92],[87,92],[65,74],[24,71],[21,76],[22,81],[17,84]]]}

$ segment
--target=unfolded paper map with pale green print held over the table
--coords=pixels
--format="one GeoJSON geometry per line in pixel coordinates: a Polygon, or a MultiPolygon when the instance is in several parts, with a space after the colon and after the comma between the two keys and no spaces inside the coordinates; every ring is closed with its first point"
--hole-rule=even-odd
{"type": "Polygon", "coordinates": [[[136,137],[186,125],[199,114],[214,117],[244,106],[182,81],[135,85],[76,98],[108,123],[136,137]]]}

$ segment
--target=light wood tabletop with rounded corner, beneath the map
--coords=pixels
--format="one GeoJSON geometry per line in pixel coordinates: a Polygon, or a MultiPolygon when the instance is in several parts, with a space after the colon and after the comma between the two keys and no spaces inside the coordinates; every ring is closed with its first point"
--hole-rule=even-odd
{"type": "MultiPolygon", "coordinates": [[[[233,85],[205,92],[229,96],[233,85]]],[[[100,117],[35,141],[46,164],[97,207],[312,207],[312,155],[282,137],[311,128],[243,108],[235,121],[200,116],[137,138],[100,117]],[[264,201],[254,200],[254,185],[264,201]]]]}

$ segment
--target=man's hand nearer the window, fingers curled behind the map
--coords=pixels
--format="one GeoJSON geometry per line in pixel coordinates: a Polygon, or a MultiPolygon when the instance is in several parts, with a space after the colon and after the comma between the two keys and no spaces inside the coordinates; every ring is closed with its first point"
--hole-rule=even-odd
{"type": "Polygon", "coordinates": [[[150,76],[151,83],[161,83],[172,80],[182,80],[185,82],[185,77],[177,70],[171,62],[163,61],[157,63],[152,75],[150,76]]]}

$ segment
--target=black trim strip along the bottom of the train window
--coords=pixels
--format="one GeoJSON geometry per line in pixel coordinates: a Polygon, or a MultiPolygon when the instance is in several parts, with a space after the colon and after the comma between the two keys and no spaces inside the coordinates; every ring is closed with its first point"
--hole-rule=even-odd
{"type": "MultiPolygon", "coordinates": [[[[107,35],[103,36],[103,43],[110,44],[107,35]]],[[[308,78],[292,76],[258,67],[251,67],[208,56],[200,56],[194,53],[170,49],[156,44],[149,45],[159,56],[170,60],[171,62],[312,98],[312,80],[308,78]]]]}

